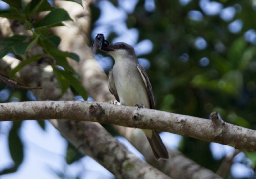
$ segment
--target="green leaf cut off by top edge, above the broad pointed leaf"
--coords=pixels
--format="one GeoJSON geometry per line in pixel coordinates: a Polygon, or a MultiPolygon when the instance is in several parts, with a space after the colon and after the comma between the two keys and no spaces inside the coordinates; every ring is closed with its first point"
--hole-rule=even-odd
{"type": "Polygon", "coordinates": [[[30,3],[27,4],[24,13],[29,13],[33,16],[38,12],[51,11],[52,9],[54,9],[54,7],[52,7],[47,0],[31,0],[30,3]]]}

